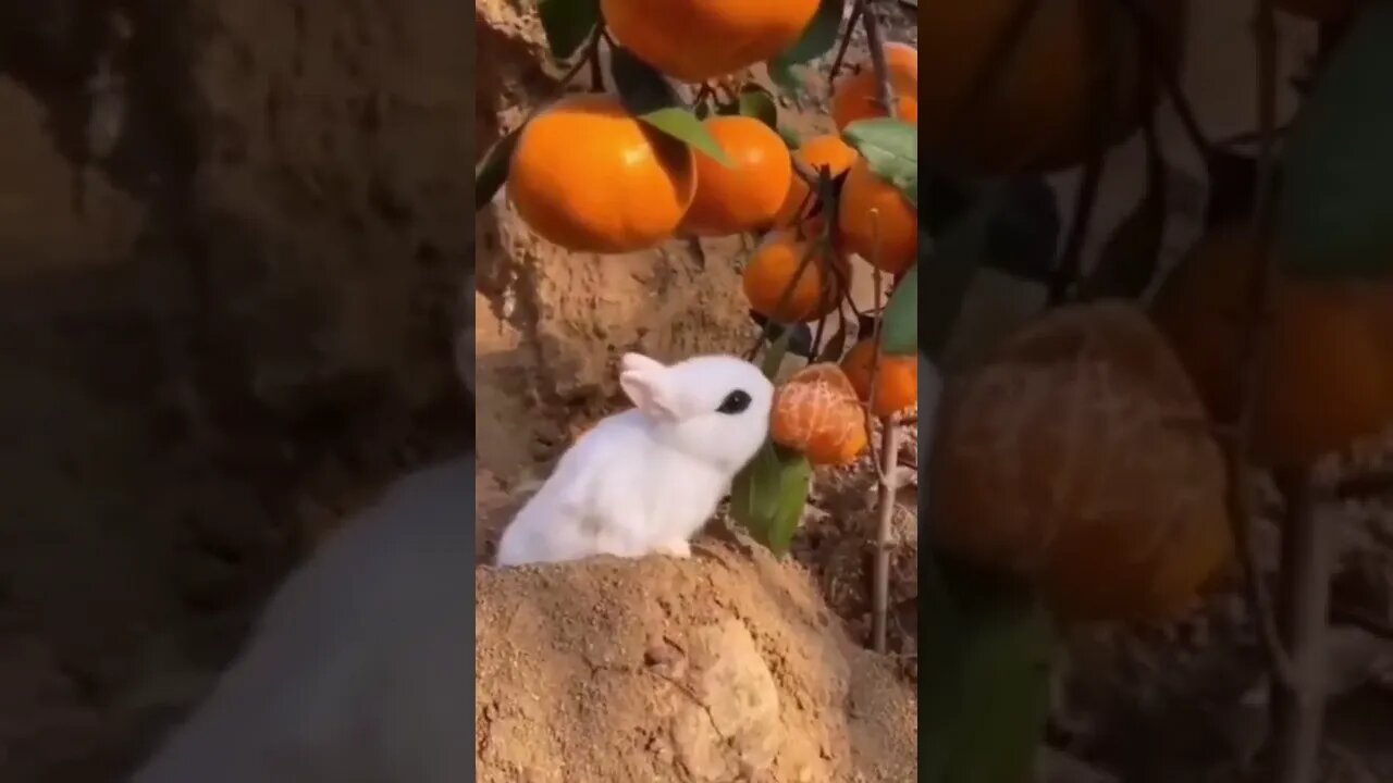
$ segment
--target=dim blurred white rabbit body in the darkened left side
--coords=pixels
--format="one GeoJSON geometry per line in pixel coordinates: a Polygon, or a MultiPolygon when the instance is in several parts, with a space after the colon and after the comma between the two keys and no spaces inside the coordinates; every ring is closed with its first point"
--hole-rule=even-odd
{"type": "Polygon", "coordinates": [[[393,485],[131,783],[472,780],[472,457],[393,485]]]}

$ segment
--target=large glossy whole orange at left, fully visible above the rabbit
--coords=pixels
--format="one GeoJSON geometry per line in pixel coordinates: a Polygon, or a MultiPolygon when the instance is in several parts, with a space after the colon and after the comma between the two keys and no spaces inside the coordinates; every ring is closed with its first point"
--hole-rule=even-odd
{"type": "Polygon", "coordinates": [[[613,95],[570,95],[522,128],[507,192],[539,237],[620,254],[667,240],[696,191],[691,148],[635,120],[613,95]]]}

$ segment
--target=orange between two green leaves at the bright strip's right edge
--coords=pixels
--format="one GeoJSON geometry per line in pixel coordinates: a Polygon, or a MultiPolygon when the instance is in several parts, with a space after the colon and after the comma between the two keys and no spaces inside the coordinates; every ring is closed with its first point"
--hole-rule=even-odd
{"type": "Polygon", "coordinates": [[[843,248],[892,274],[900,274],[919,252],[919,217],[910,201],[857,159],[841,183],[837,223],[843,248]],[[879,240],[879,241],[878,241],[879,240]]]}

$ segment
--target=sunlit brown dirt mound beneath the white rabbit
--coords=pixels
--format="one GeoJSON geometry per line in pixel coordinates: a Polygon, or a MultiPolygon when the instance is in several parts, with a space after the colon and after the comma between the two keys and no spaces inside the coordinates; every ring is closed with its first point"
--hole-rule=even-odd
{"type": "Polygon", "coordinates": [[[797,564],[702,543],[476,573],[483,783],[904,782],[915,699],[797,564]]]}

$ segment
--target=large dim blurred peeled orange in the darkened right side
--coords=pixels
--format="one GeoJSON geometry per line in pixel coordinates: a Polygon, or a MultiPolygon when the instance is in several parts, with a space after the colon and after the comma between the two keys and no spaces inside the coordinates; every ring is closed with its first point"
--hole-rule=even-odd
{"type": "Polygon", "coordinates": [[[1231,563],[1204,403],[1130,302],[1067,305],[947,382],[929,461],[940,542],[1073,620],[1169,620],[1231,563]]]}

